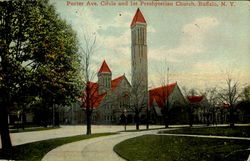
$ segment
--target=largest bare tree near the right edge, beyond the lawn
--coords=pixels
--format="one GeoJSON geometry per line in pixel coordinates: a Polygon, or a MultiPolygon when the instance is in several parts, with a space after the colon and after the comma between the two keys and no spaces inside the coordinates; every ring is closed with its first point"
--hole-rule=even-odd
{"type": "Polygon", "coordinates": [[[226,79],[227,87],[220,91],[219,99],[229,105],[229,123],[230,127],[234,127],[235,123],[235,105],[240,98],[240,86],[238,81],[234,81],[228,74],[226,79]]]}

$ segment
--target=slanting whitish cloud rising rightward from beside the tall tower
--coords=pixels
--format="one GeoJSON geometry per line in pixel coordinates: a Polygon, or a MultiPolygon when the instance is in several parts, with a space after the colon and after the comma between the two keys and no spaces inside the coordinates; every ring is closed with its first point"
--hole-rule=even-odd
{"type": "Polygon", "coordinates": [[[216,18],[196,18],[191,23],[183,26],[181,30],[182,37],[177,47],[169,49],[166,46],[162,46],[153,49],[149,57],[156,60],[162,60],[167,57],[167,61],[169,62],[179,62],[180,57],[201,53],[207,34],[218,24],[219,22],[216,18]]]}

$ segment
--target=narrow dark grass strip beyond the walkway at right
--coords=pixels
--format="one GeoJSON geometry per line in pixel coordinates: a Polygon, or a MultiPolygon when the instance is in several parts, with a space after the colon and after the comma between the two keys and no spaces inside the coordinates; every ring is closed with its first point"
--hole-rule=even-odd
{"type": "Polygon", "coordinates": [[[178,130],[160,131],[160,133],[250,137],[250,126],[235,126],[233,128],[231,127],[183,128],[178,130]]]}

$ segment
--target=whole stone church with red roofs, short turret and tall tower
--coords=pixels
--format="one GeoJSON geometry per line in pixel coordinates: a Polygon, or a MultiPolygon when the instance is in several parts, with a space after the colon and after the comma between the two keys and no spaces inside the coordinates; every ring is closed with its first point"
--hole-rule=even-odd
{"type": "MultiPolygon", "coordinates": [[[[177,83],[161,86],[148,91],[147,23],[138,8],[130,25],[131,29],[131,84],[125,75],[112,79],[112,71],[104,60],[98,73],[97,82],[89,82],[90,103],[93,107],[93,124],[119,124],[126,114],[127,123],[134,122],[133,104],[143,106],[141,118],[146,117],[146,109],[156,119],[161,117],[161,109],[168,102],[169,107],[183,105],[183,97],[177,83]],[[139,98],[139,99],[138,99],[139,98]]],[[[85,103],[82,104],[85,108],[85,103]]],[[[85,122],[85,121],[84,121],[85,122]]]]}

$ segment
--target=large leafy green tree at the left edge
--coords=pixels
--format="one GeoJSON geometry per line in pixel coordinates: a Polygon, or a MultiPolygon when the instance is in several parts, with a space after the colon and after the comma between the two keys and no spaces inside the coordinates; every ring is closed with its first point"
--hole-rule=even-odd
{"type": "Polygon", "coordinates": [[[8,112],[39,97],[44,108],[80,94],[78,41],[47,0],[0,2],[0,132],[11,147],[8,112]]]}

